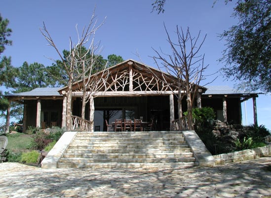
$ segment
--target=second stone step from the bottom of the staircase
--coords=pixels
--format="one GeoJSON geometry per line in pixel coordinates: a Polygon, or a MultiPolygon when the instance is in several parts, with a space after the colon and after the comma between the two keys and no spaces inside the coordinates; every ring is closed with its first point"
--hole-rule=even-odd
{"type": "Polygon", "coordinates": [[[193,157],[193,152],[183,152],[183,153],[153,153],[153,154],[142,154],[142,153],[66,153],[63,155],[64,158],[94,158],[94,159],[113,159],[113,158],[182,158],[182,157],[193,157]]]}

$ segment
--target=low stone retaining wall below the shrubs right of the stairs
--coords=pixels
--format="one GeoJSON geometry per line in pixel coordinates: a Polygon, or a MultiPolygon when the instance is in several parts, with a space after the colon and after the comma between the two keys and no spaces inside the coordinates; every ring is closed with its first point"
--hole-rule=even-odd
{"type": "Polygon", "coordinates": [[[226,164],[236,161],[244,161],[259,157],[271,156],[271,145],[258,147],[224,154],[213,155],[215,164],[226,164]]]}

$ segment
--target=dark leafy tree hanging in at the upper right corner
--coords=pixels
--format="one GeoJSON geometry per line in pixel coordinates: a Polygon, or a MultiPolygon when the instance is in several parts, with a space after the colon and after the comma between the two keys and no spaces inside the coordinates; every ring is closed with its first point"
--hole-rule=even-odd
{"type": "Polygon", "coordinates": [[[271,0],[237,0],[233,17],[238,24],[221,35],[222,71],[250,90],[271,92],[271,0]]]}

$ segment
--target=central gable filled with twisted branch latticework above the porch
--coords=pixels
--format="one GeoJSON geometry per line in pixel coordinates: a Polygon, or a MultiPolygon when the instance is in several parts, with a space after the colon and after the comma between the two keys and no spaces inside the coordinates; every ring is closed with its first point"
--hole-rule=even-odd
{"type": "MultiPolygon", "coordinates": [[[[100,82],[103,90],[101,89],[99,91],[102,92],[131,91],[129,88],[130,82],[132,82],[132,91],[177,91],[178,82],[175,76],[133,59],[125,60],[103,71],[97,72],[93,74],[91,78],[106,79],[100,82]],[[132,78],[132,81],[130,81],[130,78],[132,78]]],[[[80,90],[82,82],[81,80],[74,83],[73,90],[80,90]]],[[[199,88],[204,91],[206,90],[206,88],[201,86],[199,86],[199,88]]],[[[59,92],[67,91],[67,89],[67,87],[64,87],[60,89],[59,92]]]]}

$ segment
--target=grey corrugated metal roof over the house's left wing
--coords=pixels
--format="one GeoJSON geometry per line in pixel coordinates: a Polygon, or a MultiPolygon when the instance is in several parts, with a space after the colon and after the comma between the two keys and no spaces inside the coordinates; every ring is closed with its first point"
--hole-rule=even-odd
{"type": "Polygon", "coordinates": [[[58,93],[60,87],[36,88],[30,92],[14,93],[7,96],[61,96],[58,93]]]}

